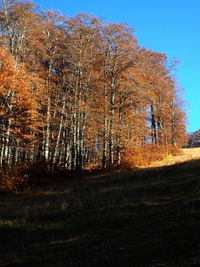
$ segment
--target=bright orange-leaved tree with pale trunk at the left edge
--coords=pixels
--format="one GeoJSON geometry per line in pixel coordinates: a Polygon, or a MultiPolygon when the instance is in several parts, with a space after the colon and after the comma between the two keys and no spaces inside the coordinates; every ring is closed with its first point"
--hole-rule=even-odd
{"type": "Polygon", "coordinates": [[[31,131],[37,124],[37,102],[25,68],[17,65],[6,49],[0,50],[0,69],[0,164],[4,158],[10,166],[23,159],[25,151],[32,149],[35,140],[31,131]]]}

